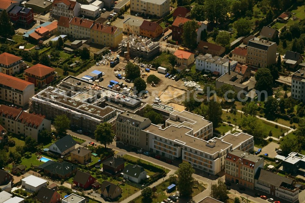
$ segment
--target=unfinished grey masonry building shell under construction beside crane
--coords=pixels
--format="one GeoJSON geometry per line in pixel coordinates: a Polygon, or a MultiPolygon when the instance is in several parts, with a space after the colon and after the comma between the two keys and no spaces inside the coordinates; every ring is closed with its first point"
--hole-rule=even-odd
{"type": "Polygon", "coordinates": [[[160,52],[160,42],[153,42],[152,39],[147,37],[137,37],[132,34],[122,40],[119,49],[127,56],[127,47],[129,46],[130,57],[140,57],[144,60],[152,60],[160,52]]]}

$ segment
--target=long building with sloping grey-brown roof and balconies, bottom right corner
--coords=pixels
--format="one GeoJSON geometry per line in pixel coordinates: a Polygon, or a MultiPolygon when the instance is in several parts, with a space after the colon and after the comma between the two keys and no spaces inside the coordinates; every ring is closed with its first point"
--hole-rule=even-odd
{"type": "Polygon", "coordinates": [[[287,202],[299,200],[299,188],[295,186],[296,183],[293,179],[279,176],[262,168],[257,170],[254,179],[255,190],[263,191],[287,202]]]}

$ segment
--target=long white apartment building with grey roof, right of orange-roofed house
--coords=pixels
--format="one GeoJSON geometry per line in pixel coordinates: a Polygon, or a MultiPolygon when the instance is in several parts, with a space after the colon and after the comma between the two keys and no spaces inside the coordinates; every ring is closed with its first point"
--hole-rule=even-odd
{"type": "Polygon", "coordinates": [[[234,68],[237,61],[230,61],[228,58],[221,58],[220,56],[212,56],[211,54],[198,55],[196,57],[196,69],[210,71],[214,75],[223,75],[224,73],[234,68]]]}

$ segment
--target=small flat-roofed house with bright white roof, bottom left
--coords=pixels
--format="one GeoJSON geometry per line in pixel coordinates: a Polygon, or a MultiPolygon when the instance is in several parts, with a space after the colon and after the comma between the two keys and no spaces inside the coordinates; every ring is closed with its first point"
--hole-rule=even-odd
{"type": "Polygon", "coordinates": [[[21,179],[21,185],[28,192],[36,192],[41,189],[41,187],[47,187],[47,180],[38,178],[37,176],[27,176],[26,178],[21,179]]]}

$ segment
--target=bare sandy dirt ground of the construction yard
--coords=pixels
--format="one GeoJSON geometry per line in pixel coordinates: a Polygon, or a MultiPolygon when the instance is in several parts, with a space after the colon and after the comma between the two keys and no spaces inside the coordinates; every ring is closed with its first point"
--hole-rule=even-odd
{"type": "MultiPolygon", "coordinates": [[[[124,58],[121,57],[121,61],[117,66],[120,66],[121,68],[123,68],[124,65],[126,65],[126,62],[123,62],[123,59],[124,58]]],[[[117,68],[117,66],[116,66],[116,68],[117,68]]],[[[103,87],[107,87],[107,85],[109,85],[110,80],[117,80],[119,82],[126,83],[124,80],[119,80],[118,78],[115,77],[115,75],[114,75],[115,70],[114,70],[114,68],[110,68],[109,65],[92,66],[85,72],[79,74],[77,77],[81,78],[84,75],[91,73],[93,70],[99,70],[99,71],[102,71],[103,73],[105,73],[105,76],[103,76],[104,80],[99,83],[99,85],[101,85],[103,87]]],[[[146,72],[144,72],[143,68],[141,69],[141,71],[143,73],[146,73],[146,72]]],[[[122,70],[120,73],[124,73],[124,70],[122,70]]],[[[143,99],[142,101],[152,104],[155,97],[160,97],[160,99],[162,100],[162,103],[165,103],[165,104],[170,103],[170,102],[181,104],[181,102],[184,101],[184,99],[181,99],[181,98],[184,96],[187,89],[184,87],[183,81],[181,81],[181,80],[175,81],[175,80],[168,79],[165,77],[164,74],[158,73],[157,71],[153,71],[153,70],[151,70],[149,73],[147,73],[147,76],[144,77],[143,79],[146,81],[146,78],[151,74],[160,78],[161,81],[159,84],[157,84],[156,87],[151,87],[150,84],[147,84],[146,90],[149,92],[149,94],[148,94],[149,96],[147,98],[143,99]],[[176,101],[175,98],[179,98],[179,99],[176,101]]],[[[126,83],[126,84],[128,87],[133,87],[132,83],[126,83]]],[[[174,103],[172,103],[172,104],[176,105],[174,103]]],[[[175,107],[179,110],[180,109],[183,110],[183,107],[181,105],[176,105],[175,107]]]]}

